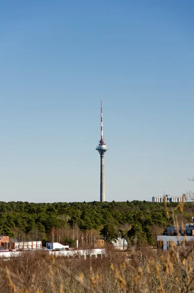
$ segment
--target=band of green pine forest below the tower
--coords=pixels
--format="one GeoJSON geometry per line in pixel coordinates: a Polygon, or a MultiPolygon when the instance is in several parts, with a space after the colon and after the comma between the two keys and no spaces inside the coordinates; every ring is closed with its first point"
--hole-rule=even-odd
{"type": "MultiPolygon", "coordinates": [[[[170,211],[177,206],[176,203],[167,205],[170,211]]],[[[193,203],[186,203],[182,214],[179,210],[176,213],[181,221],[191,222],[193,203]]],[[[118,235],[123,236],[125,231],[129,235],[133,231],[153,244],[156,234],[172,224],[172,217],[167,219],[163,203],[0,202],[1,234],[16,237],[20,241],[42,240],[43,244],[46,241],[58,241],[73,245],[75,239],[80,239],[82,245],[91,245],[92,239],[99,237],[99,232],[106,225],[114,226],[118,235]]]]}

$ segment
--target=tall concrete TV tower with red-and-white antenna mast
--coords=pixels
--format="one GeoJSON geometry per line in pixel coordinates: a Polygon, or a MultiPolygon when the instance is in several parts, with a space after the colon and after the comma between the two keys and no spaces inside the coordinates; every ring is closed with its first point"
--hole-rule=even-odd
{"type": "Polygon", "coordinates": [[[105,145],[104,137],[103,137],[103,107],[102,107],[102,98],[101,98],[101,139],[99,141],[99,145],[96,146],[96,150],[100,154],[100,201],[105,201],[105,164],[104,164],[104,156],[108,147],[105,145]]]}

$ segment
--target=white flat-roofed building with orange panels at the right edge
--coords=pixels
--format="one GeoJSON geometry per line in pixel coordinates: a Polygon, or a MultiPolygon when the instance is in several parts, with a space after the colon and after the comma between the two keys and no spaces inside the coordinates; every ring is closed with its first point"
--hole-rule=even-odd
{"type": "Polygon", "coordinates": [[[178,231],[177,227],[167,227],[167,232],[165,234],[157,235],[157,247],[162,250],[168,250],[171,247],[171,241],[177,246],[181,246],[181,243],[185,241],[185,235],[187,235],[187,241],[194,241],[193,224],[186,224],[184,230],[182,230],[182,226],[180,226],[178,231]]]}

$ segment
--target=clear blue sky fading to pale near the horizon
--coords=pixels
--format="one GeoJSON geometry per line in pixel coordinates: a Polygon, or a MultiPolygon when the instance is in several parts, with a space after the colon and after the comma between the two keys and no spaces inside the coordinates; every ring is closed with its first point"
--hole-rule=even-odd
{"type": "Polygon", "coordinates": [[[1,1],[0,200],[99,200],[101,95],[106,200],[194,189],[193,0],[1,1]]]}

